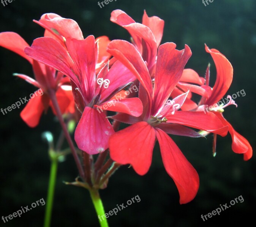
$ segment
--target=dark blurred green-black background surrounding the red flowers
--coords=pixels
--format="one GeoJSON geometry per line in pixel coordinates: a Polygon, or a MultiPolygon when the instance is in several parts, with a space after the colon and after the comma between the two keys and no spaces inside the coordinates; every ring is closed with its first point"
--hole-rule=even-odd
{"type": "MultiPolygon", "coordinates": [[[[215,66],[204,50],[204,43],[223,53],[234,67],[234,79],[228,94],[242,89],[246,95],[235,99],[238,108],[230,106],[224,116],[235,129],[255,147],[255,93],[256,84],[256,2],[255,0],[213,1],[204,6],[201,0],[117,0],[104,8],[97,0],[15,0],[0,5],[0,32],[14,31],[28,44],[43,36],[43,28],[33,23],[46,12],[71,18],[81,27],[84,37],[106,35],[110,39],[129,40],[125,29],[109,21],[111,11],[122,9],[136,22],[141,22],[143,10],[149,16],[165,21],[164,42],[175,42],[178,49],[188,44],[192,50],[186,68],[193,68],[204,76],[207,64],[212,63],[211,85],[215,81],[215,66]]],[[[32,76],[30,64],[11,51],[0,48],[1,108],[11,106],[36,89],[13,73],[32,76]]],[[[24,106],[22,106],[24,107],[24,106]]],[[[6,115],[0,113],[0,217],[7,216],[33,202],[46,201],[50,162],[47,144],[41,133],[51,131],[57,139],[60,126],[52,113],[41,118],[40,125],[29,128],[19,117],[21,109],[6,115]]],[[[101,197],[105,211],[126,203],[139,195],[141,202],[119,211],[108,218],[110,226],[216,226],[243,224],[254,220],[256,202],[255,157],[245,162],[242,155],[231,150],[231,137],[218,136],[217,155],[212,157],[212,136],[204,138],[174,138],[187,159],[198,171],[200,188],[196,198],[185,205],[179,204],[179,194],[173,180],[165,172],[158,144],[149,173],[138,176],[132,168],[123,166],[110,179],[101,197]],[[242,195],[238,203],[203,222],[201,215],[242,195]]],[[[74,161],[69,155],[59,164],[52,227],[99,226],[88,191],[66,186],[77,176],[74,161]]],[[[43,226],[45,206],[39,206],[0,226],[43,226]]]]}

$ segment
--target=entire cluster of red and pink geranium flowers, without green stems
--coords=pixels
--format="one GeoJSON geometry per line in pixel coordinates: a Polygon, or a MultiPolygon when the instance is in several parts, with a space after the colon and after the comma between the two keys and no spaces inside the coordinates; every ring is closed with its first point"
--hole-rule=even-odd
{"type": "MultiPolygon", "coordinates": [[[[228,91],[232,65],[218,50],[205,45],[217,73],[210,87],[209,65],[205,77],[185,69],[192,55],[187,45],[183,50],[172,42],[160,45],[164,21],[159,17],[148,17],[144,11],[142,23],[137,23],[114,10],[110,20],[130,33],[131,42],[111,41],[106,36],[84,38],[74,20],[53,13],[35,21],[45,33],[31,47],[16,33],[0,33],[0,45],[27,59],[35,79],[15,75],[44,92],[28,102],[21,117],[28,126],[37,126],[48,107],[55,113],[49,98],[55,93],[61,113],[76,116],[74,140],[79,149],[89,155],[109,150],[114,162],[130,164],[139,175],[149,171],[157,140],[180,204],[190,202],[198,191],[199,176],[168,134],[203,137],[212,133],[215,154],[216,135],[224,137],[229,132],[232,150],[243,154],[244,160],[252,156],[249,142],[223,117],[224,107],[204,111],[228,91]],[[126,93],[132,86],[139,89],[126,93]],[[194,101],[195,94],[201,97],[199,102],[194,101]],[[112,105],[116,96],[122,99],[112,105]],[[119,123],[130,126],[119,130],[119,123]]],[[[234,100],[229,104],[235,104],[234,100]]]]}

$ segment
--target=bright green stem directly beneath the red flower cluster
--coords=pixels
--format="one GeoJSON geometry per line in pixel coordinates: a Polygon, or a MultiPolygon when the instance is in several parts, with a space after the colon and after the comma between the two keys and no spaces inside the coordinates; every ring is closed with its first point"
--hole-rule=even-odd
{"type": "Polygon", "coordinates": [[[98,219],[99,219],[99,222],[100,222],[100,226],[101,227],[108,227],[107,219],[104,216],[105,211],[104,211],[104,207],[103,207],[103,204],[102,204],[102,201],[101,201],[101,198],[100,198],[99,190],[90,189],[89,191],[90,191],[90,195],[91,195],[91,198],[92,198],[94,208],[96,210],[96,213],[97,213],[97,216],[98,216],[98,219]]]}

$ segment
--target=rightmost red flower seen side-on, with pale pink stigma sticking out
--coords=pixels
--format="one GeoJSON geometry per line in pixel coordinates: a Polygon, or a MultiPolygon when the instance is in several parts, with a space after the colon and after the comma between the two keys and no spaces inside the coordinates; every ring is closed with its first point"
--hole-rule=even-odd
{"type": "MultiPolygon", "coordinates": [[[[242,135],[240,135],[238,132],[234,130],[232,125],[223,117],[222,112],[224,112],[224,108],[235,104],[235,101],[232,100],[231,96],[228,96],[229,102],[223,106],[223,102],[220,101],[221,98],[226,94],[228,91],[232,79],[233,79],[233,67],[231,63],[226,59],[226,57],[221,54],[218,50],[215,49],[209,49],[205,45],[205,50],[207,53],[210,53],[213,61],[216,66],[216,82],[213,86],[212,90],[208,90],[209,92],[209,98],[202,98],[199,105],[205,105],[201,106],[199,108],[206,109],[208,112],[208,109],[210,112],[213,112],[216,114],[216,116],[219,117],[219,119],[223,122],[223,124],[228,125],[228,131],[232,137],[232,150],[235,153],[243,154],[244,160],[249,160],[253,155],[253,149],[251,148],[250,143],[246,138],[244,138],[242,135]],[[222,103],[220,106],[218,103],[222,103]],[[207,108],[208,107],[208,108],[207,108]]],[[[210,78],[210,70],[209,67],[207,68],[206,72],[206,85],[209,86],[209,78],[210,78]]],[[[237,105],[236,105],[237,106],[237,105]]],[[[213,154],[215,154],[216,149],[216,135],[214,137],[214,143],[213,143],[213,154]]]]}

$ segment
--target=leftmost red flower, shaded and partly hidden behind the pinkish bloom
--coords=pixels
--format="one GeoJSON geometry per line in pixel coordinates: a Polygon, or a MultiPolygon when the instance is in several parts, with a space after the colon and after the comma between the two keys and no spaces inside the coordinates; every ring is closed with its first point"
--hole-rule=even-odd
{"type": "Polygon", "coordinates": [[[23,74],[16,73],[14,75],[43,90],[43,95],[35,96],[30,99],[21,112],[21,118],[28,126],[37,126],[43,111],[46,111],[49,106],[52,107],[52,110],[55,113],[49,96],[47,95],[49,89],[56,92],[57,101],[62,113],[74,113],[74,100],[72,97],[71,86],[68,86],[70,79],[64,77],[62,73],[56,72],[54,68],[47,67],[28,57],[24,53],[24,48],[29,47],[29,45],[17,33],[0,33],[0,46],[21,55],[32,64],[36,80],[23,74]]]}

